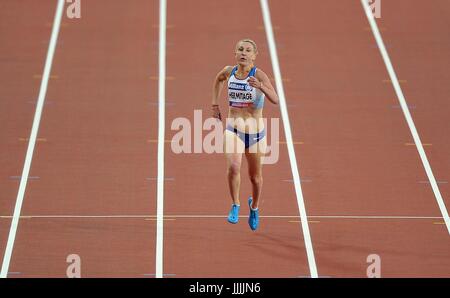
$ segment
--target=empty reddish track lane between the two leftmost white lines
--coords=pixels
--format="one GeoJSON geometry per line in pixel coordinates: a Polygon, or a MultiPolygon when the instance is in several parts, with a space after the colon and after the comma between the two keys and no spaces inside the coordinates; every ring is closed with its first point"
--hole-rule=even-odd
{"type": "MultiPolygon", "coordinates": [[[[58,78],[48,90],[55,104],[39,132],[47,142],[30,172],[40,179],[28,186],[22,214],[154,214],[156,147],[147,140],[156,136],[157,2],[83,2],[82,9],[60,32],[58,78]]],[[[154,225],[22,219],[10,271],[63,277],[65,258],[78,253],[84,277],[151,274],[154,225]]]]}

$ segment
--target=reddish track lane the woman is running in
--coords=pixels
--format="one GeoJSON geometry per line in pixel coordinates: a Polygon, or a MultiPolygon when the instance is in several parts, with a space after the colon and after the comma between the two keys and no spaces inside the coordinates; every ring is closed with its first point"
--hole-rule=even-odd
{"type": "MultiPolygon", "coordinates": [[[[271,76],[264,25],[257,5],[258,1],[196,1],[195,5],[169,1],[168,25],[173,25],[173,29],[168,30],[167,40],[177,52],[168,48],[167,75],[175,79],[168,82],[167,99],[176,104],[167,111],[166,127],[170,128],[172,119],[176,117],[186,117],[194,123],[195,109],[202,110],[203,119],[210,117],[213,78],[224,65],[234,63],[234,45],[239,39],[255,39],[261,47],[257,65],[271,76]],[[198,11],[208,11],[208,17],[187,18],[198,11]],[[254,11],[252,18],[247,17],[249,11],[254,11]]],[[[224,115],[227,108],[222,97],[224,115]]],[[[280,117],[278,107],[272,107],[269,102],[264,114],[268,118],[280,117]]],[[[284,140],[282,131],[280,140],[284,140]]],[[[165,215],[223,214],[223,218],[177,219],[165,223],[164,272],[179,277],[308,275],[299,224],[262,219],[259,231],[253,233],[245,217],[237,225],[226,222],[231,200],[225,175],[226,163],[221,154],[178,155],[167,146],[166,156],[166,173],[174,180],[166,183],[165,215]]],[[[294,188],[282,181],[292,178],[285,145],[280,145],[279,162],[266,165],[263,171],[265,187],[261,215],[298,215],[294,188]]],[[[246,216],[250,183],[245,161],[241,179],[241,214],[246,216]]]]}

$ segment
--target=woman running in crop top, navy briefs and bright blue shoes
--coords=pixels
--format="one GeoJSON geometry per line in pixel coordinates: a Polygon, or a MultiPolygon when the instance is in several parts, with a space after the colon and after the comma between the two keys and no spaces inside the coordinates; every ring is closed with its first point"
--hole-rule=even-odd
{"type": "Polygon", "coordinates": [[[227,159],[228,185],[233,200],[228,222],[239,220],[239,188],[242,154],[248,162],[252,183],[252,196],[248,198],[250,214],[248,224],[255,231],[259,226],[258,203],[262,189],[262,158],[266,151],[266,131],[262,118],[264,99],[278,104],[268,76],[256,68],[256,43],[250,39],[238,41],[235,48],[236,66],[226,66],[216,76],[213,85],[213,117],[221,120],[218,98],[223,84],[228,81],[228,117],[224,133],[224,151],[227,159]]]}

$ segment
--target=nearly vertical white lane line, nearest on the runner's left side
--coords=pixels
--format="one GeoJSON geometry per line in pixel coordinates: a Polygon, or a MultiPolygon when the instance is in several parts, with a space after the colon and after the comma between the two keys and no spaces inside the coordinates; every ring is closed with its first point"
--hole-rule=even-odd
{"type": "Polygon", "coordinates": [[[167,1],[159,1],[159,85],[158,85],[158,185],[156,193],[156,278],[163,277],[164,235],[164,137],[166,99],[167,1]]]}

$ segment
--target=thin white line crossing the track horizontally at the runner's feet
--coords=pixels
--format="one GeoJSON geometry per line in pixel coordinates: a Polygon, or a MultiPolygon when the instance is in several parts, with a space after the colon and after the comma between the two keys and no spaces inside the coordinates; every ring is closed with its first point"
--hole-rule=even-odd
{"type": "MultiPolygon", "coordinates": [[[[242,215],[248,217],[248,215],[242,215]]],[[[262,218],[274,219],[299,219],[298,215],[260,215],[262,218]]],[[[0,216],[0,218],[10,219],[12,216],[0,216]]],[[[25,219],[141,219],[141,218],[157,218],[157,215],[22,215],[20,218],[25,219]]],[[[226,215],[209,215],[209,214],[174,214],[164,215],[164,218],[226,218],[226,215]]],[[[442,219],[442,216],[403,216],[403,215],[308,215],[308,218],[322,219],[442,219]]]]}

